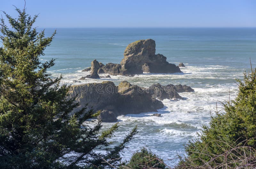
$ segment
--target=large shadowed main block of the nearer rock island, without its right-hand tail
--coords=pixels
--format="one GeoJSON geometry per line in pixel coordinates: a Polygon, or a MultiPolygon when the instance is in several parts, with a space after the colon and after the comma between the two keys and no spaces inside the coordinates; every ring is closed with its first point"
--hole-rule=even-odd
{"type": "Polygon", "coordinates": [[[111,81],[72,86],[69,97],[77,95],[76,101],[80,102],[80,107],[74,109],[74,112],[80,110],[87,103],[89,108],[112,111],[115,116],[157,112],[157,109],[164,107],[161,101],[152,98],[151,94],[142,88],[128,82],[124,83],[129,86],[127,90],[115,86],[111,81]]]}

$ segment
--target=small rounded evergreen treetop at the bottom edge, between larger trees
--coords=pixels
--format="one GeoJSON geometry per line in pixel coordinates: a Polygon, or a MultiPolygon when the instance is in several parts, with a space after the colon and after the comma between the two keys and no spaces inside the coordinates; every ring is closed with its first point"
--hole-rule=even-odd
{"type": "Polygon", "coordinates": [[[122,169],[141,169],[141,168],[151,168],[160,169],[165,168],[163,159],[157,157],[146,147],[141,148],[140,151],[133,153],[130,161],[122,166],[122,169]]]}

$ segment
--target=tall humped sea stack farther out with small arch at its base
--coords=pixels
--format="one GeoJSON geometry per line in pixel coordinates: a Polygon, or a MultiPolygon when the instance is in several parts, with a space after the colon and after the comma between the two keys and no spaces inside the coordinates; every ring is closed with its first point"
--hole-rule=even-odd
{"type": "MultiPolygon", "coordinates": [[[[124,59],[120,64],[108,63],[98,73],[112,75],[147,73],[175,73],[180,68],[166,61],[166,57],[156,53],[156,43],[152,39],[138,40],[124,50],[124,59]]],[[[88,68],[86,69],[88,70],[88,68]]]]}

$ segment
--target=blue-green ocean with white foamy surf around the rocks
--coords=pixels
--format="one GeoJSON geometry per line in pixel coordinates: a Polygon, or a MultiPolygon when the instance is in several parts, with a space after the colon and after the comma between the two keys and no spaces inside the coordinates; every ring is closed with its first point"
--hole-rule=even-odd
{"type": "MultiPolygon", "coordinates": [[[[40,30],[40,29],[39,29],[40,30]]],[[[55,29],[46,28],[47,36],[55,29]]],[[[121,142],[126,134],[138,125],[139,133],[127,144],[122,156],[129,159],[132,152],[146,146],[164,159],[168,165],[178,161],[177,153],[185,154],[183,144],[196,137],[202,124],[209,125],[216,105],[234,99],[237,94],[236,79],[242,79],[244,71],[256,67],[256,28],[57,28],[51,46],[41,56],[42,62],[56,59],[49,69],[53,77],[62,74],[63,82],[83,84],[113,81],[118,85],[128,81],[140,87],[153,83],[182,84],[195,89],[193,93],[180,93],[181,101],[165,99],[164,108],[155,112],[119,116],[119,130],[113,141],[121,142]],[[111,76],[102,79],[86,79],[73,82],[89,74],[81,72],[97,59],[103,64],[120,63],[129,43],[140,39],[156,41],[156,53],[181,67],[183,73],[140,74],[134,77],[111,76]]],[[[103,123],[103,130],[113,123],[103,123]]]]}

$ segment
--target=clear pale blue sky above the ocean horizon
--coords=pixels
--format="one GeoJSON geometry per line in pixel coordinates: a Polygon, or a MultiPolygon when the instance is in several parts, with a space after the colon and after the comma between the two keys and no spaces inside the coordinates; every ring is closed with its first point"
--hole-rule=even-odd
{"type": "MultiPolygon", "coordinates": [[[[0,0],[17,16],[23,0],[0,0]]],[[[256,27],[256,0],[26,0],[38,27],[256,27]]]]}

